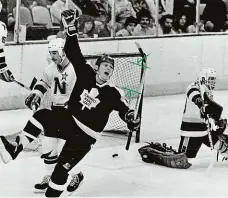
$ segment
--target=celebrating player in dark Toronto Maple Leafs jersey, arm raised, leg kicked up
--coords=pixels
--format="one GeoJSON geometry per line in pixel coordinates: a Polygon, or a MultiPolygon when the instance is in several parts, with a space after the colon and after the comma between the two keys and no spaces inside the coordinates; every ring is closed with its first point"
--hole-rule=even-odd
{"type": "MultiPolygon", "coordinates": [[[[53,105],[52,110],[36,111],[20,135],[18,145],[11,144],[3,136],[0,139],[0,154],[5,163],[15,159],[41,131],[44,131],[46,136],[66,140],[51,175],[45,193],[47,197],[59,197],[64,190],[73,192],[78,188],[83,180],[83,174],[79,173],[75,182],[67,187],[68,173],[91,150],[91,145],[103,131],[113,110],[119,112],[119,116],[130,130],[137,130],[140,123],[139,119],[134,120],[134,111],[129,109],[120,90],[109,84],[114,70],[114,59],[107,55],[99,57],[95,73],[86,63],[78,44],[76,13],[73,10],[66,10],[62,16],[64,22],[66,21],[64,25],[68,34],[64,52],[74,68],[72,73],[75,74],[75,84],[66,107],[53,105]]],[[[53,78],[55,80],[58,77],[53,78]]],[[[67,78],[67,75],[62,78],[67,78]]],[[[57,84],[62,92],[65,86],[68,86],[66,83],[60,84],[61,86],[57,84]]],[[[44,86],[35,87],[27,98],[26,105],[30,108],[39,105],[44,86]]]]}

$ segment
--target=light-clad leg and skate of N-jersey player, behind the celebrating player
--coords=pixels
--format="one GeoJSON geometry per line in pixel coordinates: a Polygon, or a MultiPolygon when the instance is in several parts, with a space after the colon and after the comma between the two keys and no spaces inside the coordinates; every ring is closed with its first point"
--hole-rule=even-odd
{"type": "Polygon", "coordinates": [[[51,177],[51,174],[55,168],[58,160],[58,138],[42,137],[42,155],[44,160],[45,176],[40,183],[35,184],[35,193],[45,192],[51,177]]]}

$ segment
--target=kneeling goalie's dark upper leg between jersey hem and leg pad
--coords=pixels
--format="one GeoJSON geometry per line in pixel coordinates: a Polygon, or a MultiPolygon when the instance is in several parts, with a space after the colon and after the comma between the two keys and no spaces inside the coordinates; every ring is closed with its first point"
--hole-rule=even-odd
{"type": "Polygon", "coordinates": [[[201,137],[181,136],[178,152],[185,152],[188,158],[195,158],[201,145],[201,137]]]}

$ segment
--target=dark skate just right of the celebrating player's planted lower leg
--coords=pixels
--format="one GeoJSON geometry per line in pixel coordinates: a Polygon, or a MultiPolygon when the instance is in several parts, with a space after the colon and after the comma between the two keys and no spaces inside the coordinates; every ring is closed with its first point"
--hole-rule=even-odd
{"type": "Polygon", "coordinates": [[[67,186],[68,196],[72,195],[79,188],[79,186],[81,186],[83,179],[84,175],[82,172],[72,175],[71,182],[67,186]]]}

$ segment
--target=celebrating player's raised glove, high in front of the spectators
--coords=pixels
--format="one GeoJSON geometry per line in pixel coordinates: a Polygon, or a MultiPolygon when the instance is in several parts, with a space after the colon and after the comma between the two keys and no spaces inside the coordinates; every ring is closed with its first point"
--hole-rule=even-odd
{"type": "Polygon", "coordinates": [[[62,12],[62,22],[64,29],[67,30],[69,36],[73,36],[78,33],[78,10],[65,10],[62,12]]]}

